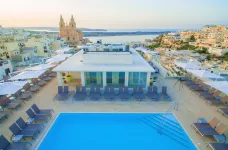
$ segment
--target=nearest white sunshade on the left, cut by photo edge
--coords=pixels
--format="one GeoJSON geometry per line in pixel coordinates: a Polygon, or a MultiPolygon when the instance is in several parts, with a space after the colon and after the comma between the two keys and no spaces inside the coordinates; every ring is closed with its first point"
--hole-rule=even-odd
{"type": "Polygon", "coordinates": [[[22,89],[28,81],[14,81],[0,83],[0,95],[14,94],[22,89]]]}

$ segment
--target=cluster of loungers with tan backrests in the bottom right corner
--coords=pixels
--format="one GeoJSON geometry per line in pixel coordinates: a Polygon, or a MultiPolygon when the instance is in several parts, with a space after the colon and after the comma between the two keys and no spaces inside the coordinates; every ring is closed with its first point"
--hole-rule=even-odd
{"type": "MultiPolygon", "coordinates": [[[[217,118],[213,118],[210,122],[207,122],[204,118],[200,118],[203,122],[193,123],[192,127],[201,135],[201,138],[204,136],[213,137],[219,143],[210,143],[208,147],[213,150],[227,150],[228,144],[226,142],[226,136],[224,132],[228,129],[228,126],[221,123],[217,118]]],[[[200,120],[198,119],[198,120],[200,120]]]]}

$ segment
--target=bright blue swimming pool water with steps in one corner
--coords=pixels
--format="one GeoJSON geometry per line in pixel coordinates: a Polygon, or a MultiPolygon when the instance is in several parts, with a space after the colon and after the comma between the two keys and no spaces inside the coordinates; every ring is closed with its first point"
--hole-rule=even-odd
{"type": "Polygon", "coordinates": [[[38,149],[195,150],[196,147],[172,114],[60,113],[38,149]]]}

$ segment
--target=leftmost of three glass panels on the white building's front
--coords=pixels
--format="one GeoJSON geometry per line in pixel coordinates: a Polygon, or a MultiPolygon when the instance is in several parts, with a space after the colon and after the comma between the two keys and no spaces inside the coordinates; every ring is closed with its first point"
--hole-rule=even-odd
{"type": "Polygon", "coordinates": [[[85,72],[85,86],[103,86],[102,72],[85,72]]]}

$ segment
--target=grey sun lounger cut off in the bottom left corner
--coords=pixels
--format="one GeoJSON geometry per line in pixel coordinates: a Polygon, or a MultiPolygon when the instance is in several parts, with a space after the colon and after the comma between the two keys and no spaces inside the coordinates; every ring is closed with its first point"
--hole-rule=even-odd
{"type": "Polygon", "coordinates": [[[28,142],[10,143],[3,135],[0,136],[1,150],[26,150],[30,145],[28,142]]]}

